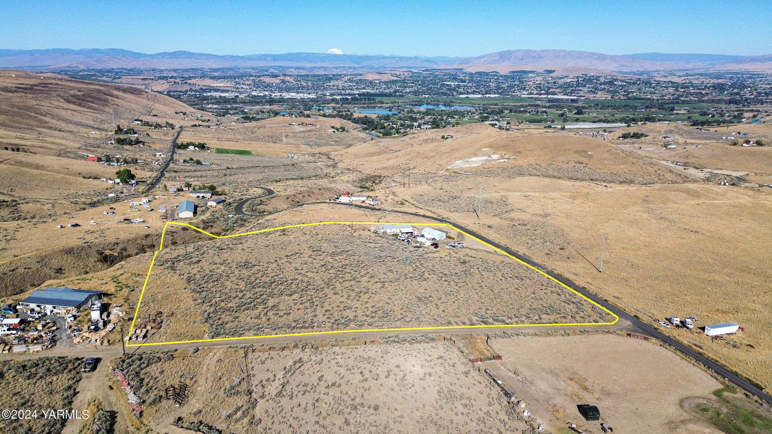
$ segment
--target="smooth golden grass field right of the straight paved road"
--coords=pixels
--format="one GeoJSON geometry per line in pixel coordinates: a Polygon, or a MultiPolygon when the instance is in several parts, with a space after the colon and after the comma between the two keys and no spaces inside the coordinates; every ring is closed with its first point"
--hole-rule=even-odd
{"type": "Polygon", "coordinates": [[[666,332],[772,386],[772,276],[763,254],[772,240],[772,192],[497,179],[486,183],[482,219],[476,219],[481,183],[464,175],[430,176],[401,195],[547,263],[652,324],[671,315],[693,315],[698,327],[736,321],[747,328],[733,337],[737,348],[666,332]]]}

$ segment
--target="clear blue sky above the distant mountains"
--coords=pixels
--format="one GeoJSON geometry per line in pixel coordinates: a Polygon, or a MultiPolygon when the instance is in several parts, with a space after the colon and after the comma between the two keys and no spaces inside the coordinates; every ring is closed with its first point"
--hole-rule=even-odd
{"type": "Polygon", "coordinates": [[[0,0],[0,48],[142,53],[479,56],[504,49],[606,54],[772,53],[772,2],[250,2],[0,0]]]}

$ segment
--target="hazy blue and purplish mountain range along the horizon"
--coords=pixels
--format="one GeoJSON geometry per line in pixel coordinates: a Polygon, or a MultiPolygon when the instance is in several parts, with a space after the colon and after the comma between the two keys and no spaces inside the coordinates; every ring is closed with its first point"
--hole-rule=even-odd
{"type": "Polygon", "coordinates": [[[145,54],[125,49],[0,49],[0,68],[83,70],[101,68],[461,68],[469,71],[557,70],[558,73],[631,73],[671,70],[772,71],[772,55],[638,53],[612,56],[563,49],[517,49],[476,57],[367,56],[328,53],[218,56],[174,51],[145,54]]]}

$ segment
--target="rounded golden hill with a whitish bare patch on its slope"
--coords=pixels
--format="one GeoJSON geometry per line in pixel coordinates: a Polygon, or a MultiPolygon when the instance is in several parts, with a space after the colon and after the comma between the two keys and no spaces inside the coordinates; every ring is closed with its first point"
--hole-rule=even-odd
{"type": "Polygon", "coordinates": [[[499,131],[468,124],[442,131],[368,142],[334,153],[344,164],[365,173],[397,175],[413,171],[472,172],[486,178],[538,176],[577,181],[654,184],[690,181],[662,164],[631,151],[565,131],[499,131]],[[451,140],[442,135],[452,134],[451,140]],[[498,155],[488,164],[472,166],[469,158],[498,155]]]}

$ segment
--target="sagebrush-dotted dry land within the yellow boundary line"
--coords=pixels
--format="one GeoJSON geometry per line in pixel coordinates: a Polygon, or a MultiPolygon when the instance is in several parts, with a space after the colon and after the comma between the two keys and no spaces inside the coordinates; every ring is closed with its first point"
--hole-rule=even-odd
{"type": "Polygon", "coordinates": [[[414,249],[369,226],[281,229],[164,249],[141,314],[174,310],[154,341],[301,331],[613,320],[513,259],[414,249]],[[176,283],[172,283],[176,282],[176,283]],[[170,297],[171,294],[175,297],[170,297]],[[180,303],[181,299],[188,299],[180,303]],[[201,311],[205,336],[177,324],[201,311]]]}

